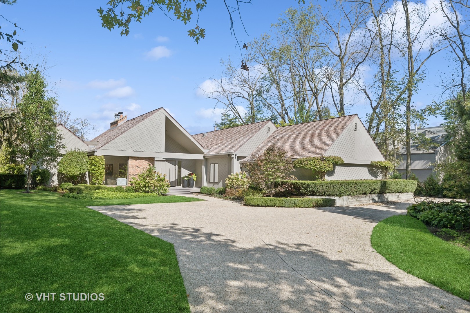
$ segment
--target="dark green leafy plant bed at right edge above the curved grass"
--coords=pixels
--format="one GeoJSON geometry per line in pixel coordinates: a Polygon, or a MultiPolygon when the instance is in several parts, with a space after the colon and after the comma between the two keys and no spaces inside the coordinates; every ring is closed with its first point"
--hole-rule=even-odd
{"type": "Polygon", "coordinates": [[[470,204],[466,202],[423,201],[407,207],[408,215],[437,228],[467,229],[470,223],[470,204]]]}

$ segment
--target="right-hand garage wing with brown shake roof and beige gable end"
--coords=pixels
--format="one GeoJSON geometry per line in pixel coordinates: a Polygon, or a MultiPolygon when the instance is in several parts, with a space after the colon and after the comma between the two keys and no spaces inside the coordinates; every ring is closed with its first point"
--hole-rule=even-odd
{"type": "MultiPolygon", "coordinates": [[[[272,144],[287,150],[293,160],[330,155],[343,158],[345,163],[327,172],[326,179],[381,178],[370,170],[370,161],[383,161],[384,156],[357,115],[278,127],[243,162],[253,161],[272,144]]],[[[305,168],[296,168],[293,175],[299,180],[312,179],[312,171],[305,168]]]]}

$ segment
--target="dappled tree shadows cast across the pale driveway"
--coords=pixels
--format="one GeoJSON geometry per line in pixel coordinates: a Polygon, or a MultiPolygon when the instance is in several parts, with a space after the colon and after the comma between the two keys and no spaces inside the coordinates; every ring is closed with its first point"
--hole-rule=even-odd
{"type": "MultiPolygon", "coordinates": [[[[102,212],[174,244],[193,313],[469,311],[467,301],[399,270],[374,251],[339,251],[335,242],[266,244],[243,222],[216,220],[213,228],[156,223],[142,219],[145,209],[138,210],[116,206],[102,212]]],[[[370,222],[382,216],[358,207],[321,211],[370,222]]],[[[384,218],[396,214],[385,212],[384,218]]]]}

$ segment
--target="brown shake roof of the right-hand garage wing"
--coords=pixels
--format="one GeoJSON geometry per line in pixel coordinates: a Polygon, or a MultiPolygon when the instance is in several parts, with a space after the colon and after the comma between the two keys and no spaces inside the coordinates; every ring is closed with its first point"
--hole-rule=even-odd
{"type": "Polygon", "coordinates": [[[293,159],[323,156],[355,116],[346,115],[329,120],[278,127],[242,162],[253,161],[255,156],[263,153],[272,144],[287,150],[289,155],[293,154],[293,159]]]}

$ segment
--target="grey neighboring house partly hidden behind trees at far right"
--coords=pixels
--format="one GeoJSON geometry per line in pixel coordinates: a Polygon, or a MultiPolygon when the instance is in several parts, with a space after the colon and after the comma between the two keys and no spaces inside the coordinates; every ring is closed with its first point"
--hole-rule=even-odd
{"type": "MultiPolygon", "coordinates": [[[[442,161],[449,156],[449,149],[446,145],[446,131],[443,126],[416,128],[415,134],[419,134],[429,139],[430,146],[426,149],[419,149],[416,142],[411,143],[411,172],[420,181],[424,181],[428,176],[436,175],[434,163],[442,161]]],[[[397,167],[403,177],[406,172],[407,149],[401,148],[397,153],[397,159],[401,163],[397,167]]]]}

